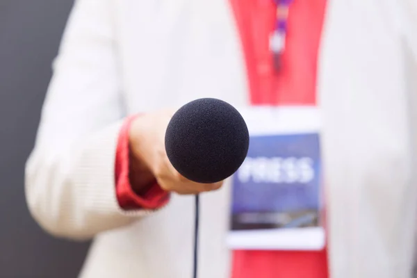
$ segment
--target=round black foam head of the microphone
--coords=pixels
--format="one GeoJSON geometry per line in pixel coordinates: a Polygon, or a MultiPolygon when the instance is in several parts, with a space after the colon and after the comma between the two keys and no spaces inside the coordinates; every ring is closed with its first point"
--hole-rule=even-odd
{"type": "Polygon", "coordinates": [[[199,183],[222,181],[243,163],[249,132],[240,113],[220,99],[197,99],[179,108],[165,133],[177,171],[199,183]]]}

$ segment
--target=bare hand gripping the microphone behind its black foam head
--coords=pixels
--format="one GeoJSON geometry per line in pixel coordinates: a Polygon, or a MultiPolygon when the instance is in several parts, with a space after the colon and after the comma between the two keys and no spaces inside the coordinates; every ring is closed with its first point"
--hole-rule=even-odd
{"type": "MultiPolygon", "coordinates": [[[[142,165],[166,191],[183,194],[198,194],[217,190],[218,183],[196,183],[183,177],[170,163],[165,152],[165,131],[175,111],[165,110],[141,115],[133,120],[129,134],[132,164],[142,165]]],[[[142,177],[149,177],[149,174],[142,177]]],[[[136,175],[137,177],[138,175],[136,175]]],[[[134,182],[136,183],[136,182],[134,182]]],[[[142,182],[143,183],[143,182],[142,182]]],[[[142,184],[138,182],[138,184],[142,184]]]]}

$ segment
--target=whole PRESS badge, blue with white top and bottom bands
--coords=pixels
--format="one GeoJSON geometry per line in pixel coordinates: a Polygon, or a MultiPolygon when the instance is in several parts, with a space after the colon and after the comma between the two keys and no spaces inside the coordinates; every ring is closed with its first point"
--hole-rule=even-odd
{"type": "Polygon", "coordinates": [[[318,108],[256,107],[240,113],[250,147],[232,177],[227,244],[244,250],[321,250],[318,108]]]}

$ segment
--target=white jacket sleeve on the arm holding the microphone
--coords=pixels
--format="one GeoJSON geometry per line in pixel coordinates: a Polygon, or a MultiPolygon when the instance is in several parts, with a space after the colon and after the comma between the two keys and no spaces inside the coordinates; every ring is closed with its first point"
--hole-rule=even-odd
{"type": "Polygon", "coordinates": [[[26,163],[28,208],[55,236],[91,238],[147,213],[122,211],[115,197],[124,106],[112,1],[76,1],[26,163]]]}

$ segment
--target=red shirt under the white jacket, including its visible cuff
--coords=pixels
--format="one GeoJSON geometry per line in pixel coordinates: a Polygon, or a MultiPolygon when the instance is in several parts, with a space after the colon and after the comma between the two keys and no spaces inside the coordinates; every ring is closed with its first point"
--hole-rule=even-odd
{"type": "MultiPolygon", "coordinates": [[[[316,105],[318,49],[326,0],[295,0],[288,14],[286,50],[279,74],[268,49],[276,8],[272,0],[229,0],[245,53],[252,105],[316,105]],[[262,69],[262,70],[260,70],[262,69]]],[[[116,193],[124,209],[158,208],[169,194],[154,184],[144,196],[129,181],[129,127],[120,131],[116,193]]],[[[224,212],[227,213],[227,212],[224,212]]],[[[234,251],[233,278],[327,278],[327,251],[234,251]]]]}

